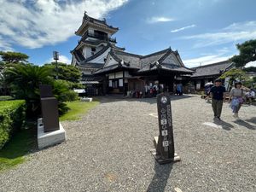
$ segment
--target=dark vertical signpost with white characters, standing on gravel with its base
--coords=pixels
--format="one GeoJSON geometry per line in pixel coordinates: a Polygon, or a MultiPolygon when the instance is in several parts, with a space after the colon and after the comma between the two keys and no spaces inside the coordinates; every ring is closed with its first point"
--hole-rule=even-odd
{"type": "Polygon", "coordinates": [[[159,137],[154,137],[155,150],[152,150],[152,154],[160,164],[180,160],[180,157],[174,151],[172,107],[169,94],[161,93],[157,96],[157,109],[159,137]]]}

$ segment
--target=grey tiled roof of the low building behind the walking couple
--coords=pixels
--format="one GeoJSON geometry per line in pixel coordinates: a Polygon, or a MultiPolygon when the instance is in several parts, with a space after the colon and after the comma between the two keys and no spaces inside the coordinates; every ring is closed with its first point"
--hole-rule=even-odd
{"type": "Polygon", "coordinates": [[[233,64],[230,61],[220,61],[216,63],[212,63],[205,66],[193,67],[191,69],[195,70],[195,73],[191,76],[191,78],[199,78],[204,76],[215,76],[221,75],[225,71],[229,70],[233,64]]]}

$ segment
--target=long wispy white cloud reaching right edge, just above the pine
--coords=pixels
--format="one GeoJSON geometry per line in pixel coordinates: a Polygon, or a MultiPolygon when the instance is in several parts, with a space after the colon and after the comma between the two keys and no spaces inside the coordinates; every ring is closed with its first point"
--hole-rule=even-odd
{"type": "Polygon", "coordinates": [[[218,32],[208,32],[183,37],[183,39],[195,39],[195,48],[207,47],[218,44],[239,43],[256,38],[256,20],[242,23],[234,23],[218,32]]]}

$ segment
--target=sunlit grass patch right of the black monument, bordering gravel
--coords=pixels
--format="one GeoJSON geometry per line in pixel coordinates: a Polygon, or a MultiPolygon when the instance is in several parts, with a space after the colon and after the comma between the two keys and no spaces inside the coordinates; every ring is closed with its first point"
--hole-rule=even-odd
{"type": "Polygon", "coordinates": [[[60,117],[60,120],[78,120],[81,116],[88,112],[90,108],[95,108],[100,102],[66,102],[70,110],[60,117]]]}

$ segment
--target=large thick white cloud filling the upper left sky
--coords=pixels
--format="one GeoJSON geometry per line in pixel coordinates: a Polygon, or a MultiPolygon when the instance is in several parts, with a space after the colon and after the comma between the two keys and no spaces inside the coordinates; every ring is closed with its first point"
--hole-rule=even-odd
{"type": "Polygon", "coordinates": [[[40,48],[57,44],[73,36],[84,15],[97,19],[128,0],[0,0],[0,48],[19,44],[40,48]]]}

